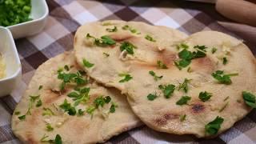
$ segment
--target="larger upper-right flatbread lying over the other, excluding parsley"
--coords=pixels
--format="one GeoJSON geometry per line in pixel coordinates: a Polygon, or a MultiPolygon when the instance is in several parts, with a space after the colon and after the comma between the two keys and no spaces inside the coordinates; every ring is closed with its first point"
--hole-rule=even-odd
{"type": "MultiPolygon", "coordinates": [[[[119,25],[114,24],[120,27],[119,25]]],[[[120,59],[119,55],[122,52],[119,49],[119,42],[116,46],[104,48],[86,45],[86,33],[97,37],[106,34],[111,36],[112,33],[106,33],[105,27],[98,22],[78,29],[74,38],[75,56],[81,66],[85,58],[88,62],[94,63],[90,68],[83,66],[91,78],[106,86],[114,86],[127,94],[132,110],[147,126],[170,134],[194,134],[198,138],[210,137],[221,134],[250,112],[250,107],[246,106],[242,99],[242,91],[255,92],[255,59],[241,41],[216,31],[202,31],[186,38],[175,30],[166,29],[166,33],[163,33],[157,26],[148,26],[143,23],[127,22],[121,26],[123,25],[136,27],[142,32],[141,36],[132,37],[131,40],[125,39],[137,46],[134,56],[129,56],[125,60],[120,59]],[[172,33],[174,35],[171,36],[170,31],[174,31],[172,33]],[[149,33],[153,35],[156,42],[145,40],[144,36],[149,33]],[[170,39],[172,42],[169,42],[170,39]],[[145,45],[146,42],[147,45],[145,45]],[[154,46],[162,43],[168,43],[168,45],[161,46],[159,50],[154,49],[154,46]],[[181,46],[182,43],[189,46],[187,50],[190,51],[196,51],[194,46],[206,46],[206,57],[194,58],[189,66],[179,70],[174,62],[179,62],[178,53],[185,49],[182,47],[186,47],[181,46]],[[217,50],[214,54],[212,54],[213,49],[217,50]],[[102,51],[110,53],[110,56],[104,57],[102,51]],[[225,65],[224,58],[227,60],[224,62],[225,65]],[[158,60],[166,64],[168,69],[159,69],[158,60]],[[154,80],[154,77],[149,74],[150,70],[162,78],[156,78],[158,81],[154,80]],[[232,81],[230,85],[221,84],[212,76],[217,70],[224,70],[224,74],[238,73],[238,75],[230,76],[232,81]],[[122,78],[118,74],[123,72],[132,77],[128,82],[119,82],[122,78]],[[189,80],[187,93],[182,88],[185,78],[189,80]],[[165,98],[158,87],[169,84],[176,86],[176,89],[174,94],[170,94],[170,98],[165,98]],[[181,86],[180,89],[179,86],[181,86]],[[204,91],[212,95],[206,102],[202,102],[198,97],[204,91]],[[150,101],[147,98],[149,94],[155,94],[157,98],[150,101]],[[191,99],[187,104],[180,106],[176,102],[182,96],[189,96],[191,99]],[[185,115],[186,118],[184,118],[185,115]],[[217,116],[224,118],[224,122],[220,124],[218,134],[210,135],[206,133],[206,124],[213,122],[217,116]]],[[[122,33],[125,32],[120,30],[117,34],[122,35],[122,33]]]]}

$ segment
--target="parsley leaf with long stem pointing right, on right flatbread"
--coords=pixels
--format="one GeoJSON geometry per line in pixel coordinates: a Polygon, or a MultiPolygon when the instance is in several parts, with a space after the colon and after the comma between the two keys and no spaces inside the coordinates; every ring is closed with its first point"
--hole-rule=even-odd
{"type": "Polygon", "coordinates": [[[217,70],[213,74],[211,74],[218,82],[226,85],[230,85],[232,83],[230,76],[237,76],[238,73],[234,74],[224,74],[223,70],[217,70]]]}

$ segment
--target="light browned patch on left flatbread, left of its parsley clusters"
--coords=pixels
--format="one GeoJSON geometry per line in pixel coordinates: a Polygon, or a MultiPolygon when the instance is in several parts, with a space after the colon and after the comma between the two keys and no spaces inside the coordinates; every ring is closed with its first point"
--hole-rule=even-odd
{"type": "Polygon", "coordinates": [[[45,91],[45,94],[42,98],[44,103],[50,104],[56,101],[58,98],[60,98],[60,94],[58,91],[48,89],[45,91]]]}

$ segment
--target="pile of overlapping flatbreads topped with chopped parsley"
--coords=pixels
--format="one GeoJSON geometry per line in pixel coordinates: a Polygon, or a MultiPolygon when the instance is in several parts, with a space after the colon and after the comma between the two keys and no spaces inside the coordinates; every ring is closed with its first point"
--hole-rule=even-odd
{"type": "Polygon", "coordinates": [[[12,118],[25,143],[97,143],[145,123],[213,138],[256,107],[248,47],[143,22],[92,22],[38,67],[12,118]]]}

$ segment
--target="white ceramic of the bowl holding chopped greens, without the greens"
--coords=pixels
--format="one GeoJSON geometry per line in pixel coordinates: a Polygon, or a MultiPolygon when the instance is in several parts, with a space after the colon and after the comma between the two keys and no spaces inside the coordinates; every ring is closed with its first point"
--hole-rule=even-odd
{"type": "Polygon", "coordinates": [[[49,14],[46,0],[31,0],[31,6],[30,18],[33,20],[7,26],[15,39],[38,34],[46,26],[47,15],[49,14]]]}

